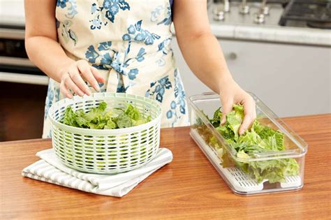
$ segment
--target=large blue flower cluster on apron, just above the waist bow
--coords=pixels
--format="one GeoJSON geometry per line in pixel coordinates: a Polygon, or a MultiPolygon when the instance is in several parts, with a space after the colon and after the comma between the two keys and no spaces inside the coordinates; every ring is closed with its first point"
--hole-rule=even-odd
{"type": "Polygon", "coordinates": [[[128,27],[128,34],[124,34],[122,36],[123,41],[137,41],[137,42],[144,42],[145,45],[152,45],[155,39],[159,39],[160,36],[154,33],[150,33],[149,31],[142,29],[142,20],[131,24],[128,27]]]}

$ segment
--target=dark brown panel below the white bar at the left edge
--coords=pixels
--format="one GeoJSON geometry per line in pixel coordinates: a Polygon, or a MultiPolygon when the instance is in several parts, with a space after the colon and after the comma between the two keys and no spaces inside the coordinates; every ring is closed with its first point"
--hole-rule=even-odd
{"type": "Polygon", "coordinates": [[[0,142],[41,138],[47,87],[0,82],[0,142]]]}

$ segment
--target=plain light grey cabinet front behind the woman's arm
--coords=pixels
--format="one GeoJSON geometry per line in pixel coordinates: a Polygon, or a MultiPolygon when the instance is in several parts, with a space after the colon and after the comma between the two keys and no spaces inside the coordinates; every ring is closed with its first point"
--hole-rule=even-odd
{"type": "MultiPolygon", "coordinates": [[[[235,80],[280,117],[331,112],[331,49],[219,39],[235,80]]],[[[176,38],[172,50],[187,96],[210,91],[189,70],[176,38]]]]}

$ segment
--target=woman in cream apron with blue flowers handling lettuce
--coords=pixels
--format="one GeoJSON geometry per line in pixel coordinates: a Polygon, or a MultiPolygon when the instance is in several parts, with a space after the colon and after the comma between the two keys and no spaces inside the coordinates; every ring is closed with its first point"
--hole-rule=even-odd
{"type": "Polygon", "coordinates": [[[253,98],[231,77],[209,29],[205,0],[26,0],[25,14],[27,53],[50,77],[43,138],[50,135],[52,103],[94,91],[154,98],[163,108],[162,127],[187,125],[184,87],[170,48],[172,20],[187,64],[220,95],[223,112],[244,105],[240,133],[256,117],[253,98]]]}

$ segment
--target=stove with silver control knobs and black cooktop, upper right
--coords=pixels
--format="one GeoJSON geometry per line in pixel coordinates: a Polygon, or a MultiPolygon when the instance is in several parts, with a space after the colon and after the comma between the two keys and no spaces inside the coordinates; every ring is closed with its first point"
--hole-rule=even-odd
{"type": "Polygon", "coordinates": [[[331,0],[214,0],[212,20],[265,27],[331,29],[331,0]]]}

